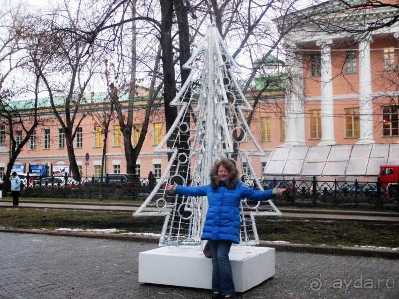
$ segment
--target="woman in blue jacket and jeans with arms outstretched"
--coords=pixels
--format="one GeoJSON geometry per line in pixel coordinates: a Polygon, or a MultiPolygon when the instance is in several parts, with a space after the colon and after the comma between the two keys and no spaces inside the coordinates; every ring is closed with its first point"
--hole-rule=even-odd
{"type": "Polygon", "coordinates": [[[208,240],[212,254],[212,299],[233,299],[235,296],[233,274],[228,253],[232,243],[239,243],[240,201],[248,198],[255,201],[271,199],[285,189],[259,191],[244,186],[238,179],[235,163],[230,159],[215,162],[210,172],[211,183],[189,187],[167,185],[167,190],[185,196],[207,196],[206,215],[201,240],[208,240]]]}

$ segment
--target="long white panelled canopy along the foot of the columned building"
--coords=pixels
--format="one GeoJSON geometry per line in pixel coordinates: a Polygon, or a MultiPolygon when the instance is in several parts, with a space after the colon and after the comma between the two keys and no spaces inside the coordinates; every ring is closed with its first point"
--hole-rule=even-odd
{"type": "Polygon", "coordinates": [[[399,144],[277,147],[264,176],[315,176],[377,180],[380,165],[399,164],[399,144]]]}

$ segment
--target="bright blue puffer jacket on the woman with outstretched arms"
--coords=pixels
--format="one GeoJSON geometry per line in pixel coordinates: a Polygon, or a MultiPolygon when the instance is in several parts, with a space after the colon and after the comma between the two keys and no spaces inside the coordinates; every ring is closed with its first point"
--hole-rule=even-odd
{"type": "Polygon", "coordinates": [[[229,240],[239,243],[240,236],[240,200],[248,198],[254,201],[272,198],[272,190],[259,191],[244,186],[238,181],[235,188],[228,189],[225,180],[216,189],[211,185],[187,187],[178,185],[176,193],[186,196],[207,196],[208,212],[202,231],[202,240],[229,240]]]}

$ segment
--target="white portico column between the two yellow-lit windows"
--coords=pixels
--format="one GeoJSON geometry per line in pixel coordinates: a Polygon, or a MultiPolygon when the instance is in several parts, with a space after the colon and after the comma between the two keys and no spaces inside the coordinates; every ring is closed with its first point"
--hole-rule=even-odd
{"type": "Polygon", "coordinates": [[[318,145],[333,145],[334,137],[334,100],[331,66],[332,40],[320,40],[316,44],[321,49],[321,141],[318,145]]]}

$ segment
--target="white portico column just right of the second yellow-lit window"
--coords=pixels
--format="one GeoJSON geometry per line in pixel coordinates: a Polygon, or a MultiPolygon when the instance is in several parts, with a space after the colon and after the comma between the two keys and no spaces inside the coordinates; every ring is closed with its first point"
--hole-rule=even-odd
{"type": "Polygon", "coordinates": [[[370,41],[371,39],[368,39],[359,43],[360,138],[356,144],[375,143],[373,136],[370,41]]]}

